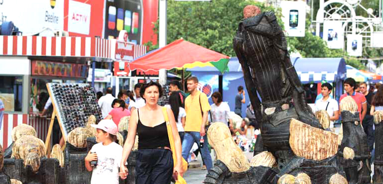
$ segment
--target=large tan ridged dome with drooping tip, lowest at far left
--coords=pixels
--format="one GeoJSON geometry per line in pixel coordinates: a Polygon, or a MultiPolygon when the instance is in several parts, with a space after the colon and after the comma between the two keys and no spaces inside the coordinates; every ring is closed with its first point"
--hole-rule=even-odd
{"type": "Polygon", "coordinates": [[[40,167],[40,158],[45,155],[45,144],[42,140],[25,135],[17,139],[12,147],[12,157],[23,159],[24,167],[31,166],[33,172],[37,172],[40,167]]]}

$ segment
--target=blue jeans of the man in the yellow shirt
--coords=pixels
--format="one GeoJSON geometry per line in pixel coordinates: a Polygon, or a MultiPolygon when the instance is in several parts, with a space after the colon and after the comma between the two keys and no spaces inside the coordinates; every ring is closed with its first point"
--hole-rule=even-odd
{"type": "MultiPolygon", "coordinates": [[[[199,132],[185,132],[184,141],[182,142],[182,157],[184,157],[185,160],[188,160],[189,152],[194,142],[196,142],[199,147],[199,139],[201,139],[201,135],[199,134],[199,132]]],[[[202,160],[206,165],[206,169],[209,170],[213,167],[213,163],[211,161],[209,148],[207,146],[207,136],[203,136],[203,139],[203,146],[199,149],[201,151],[202,160]]]]}

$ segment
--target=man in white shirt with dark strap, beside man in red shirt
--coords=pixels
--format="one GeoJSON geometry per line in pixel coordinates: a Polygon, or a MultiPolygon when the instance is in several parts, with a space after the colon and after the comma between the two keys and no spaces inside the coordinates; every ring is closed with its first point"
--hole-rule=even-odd
{"type": "Polygon", "coordinates": [[[322,98],[315,102],[315,111],[326,110],[330,116],[330,128],[334,127],[334,121],[339,119],[339,106],[335,99],[330,98],[332,86],[329,83],[323,83],[321,86],[322,98]]]}

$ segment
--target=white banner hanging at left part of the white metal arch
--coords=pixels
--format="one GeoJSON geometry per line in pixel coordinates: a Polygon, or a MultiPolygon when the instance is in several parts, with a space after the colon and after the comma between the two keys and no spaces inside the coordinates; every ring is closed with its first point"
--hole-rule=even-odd
{"type": "Polygon", "coordinates": [[[344,33],[341,21],[325,21],[323,23],[323,40],[330,49],[343,49],[344,33]]]}

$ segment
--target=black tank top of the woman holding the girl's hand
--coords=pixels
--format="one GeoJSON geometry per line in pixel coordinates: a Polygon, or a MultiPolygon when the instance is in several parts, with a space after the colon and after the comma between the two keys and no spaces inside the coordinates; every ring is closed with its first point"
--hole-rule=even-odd
{"type": "Polygon", "coordinates": [[[157,126],[150,127],[141,123],[140,112],[138,113],[137,134],[138,134],[138,149],[153,149],[158,147],[170,148],[168,129],[166,122],[157,126]]]}

